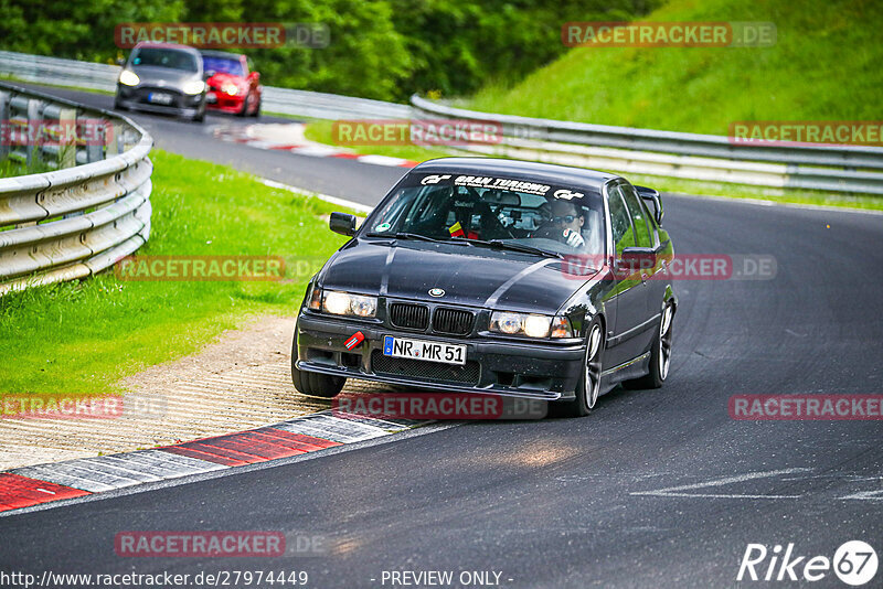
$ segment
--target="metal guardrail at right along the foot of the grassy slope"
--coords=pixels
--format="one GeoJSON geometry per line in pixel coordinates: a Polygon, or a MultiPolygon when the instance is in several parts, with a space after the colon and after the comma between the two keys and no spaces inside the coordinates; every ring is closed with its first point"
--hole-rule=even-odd
{"type": "Polygon", "coordinates": [[[689,180],[883,194],[881,148],[741,146],[710,135],[478,113],[417,95],[411,104],[418,118],[500,124],[502,142],[465,147],[485,154],[689,180]]]}

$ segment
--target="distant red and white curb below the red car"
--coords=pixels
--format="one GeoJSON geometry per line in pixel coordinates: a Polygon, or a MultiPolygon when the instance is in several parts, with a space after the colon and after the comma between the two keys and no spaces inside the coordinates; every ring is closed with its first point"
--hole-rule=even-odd
{"type": "Polygon", "coordinates": [[[305,125],[300,122],[258,124],[244,127],[219,128],[214,130],[214,137],[222,141],[242,143],[256,149],[289,151],[298,156],[310,156],[313,158],[340,158],[371,165],[414,168],[419,163],[402,158],[391,158],[389,156],[361,156],[338,147],[317,143],[304,137],[304,128],[305,125]]]}

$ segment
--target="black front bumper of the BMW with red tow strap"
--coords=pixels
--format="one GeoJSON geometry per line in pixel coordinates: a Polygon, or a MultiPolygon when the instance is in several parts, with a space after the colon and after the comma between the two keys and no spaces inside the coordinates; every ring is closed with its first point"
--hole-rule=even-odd
{"type": "Polygon", "coordinates": [[[382,324],[301,313],[295,330],[298,370],[453,393],[490,393],[531,399],[572,399],[585,344],[500,341],[413,333],[382,324]],[[357,331],[364,341],[343,343],[357,331]],[[466,345],[466,366],[383,355],[383,336],[466,345]]]}

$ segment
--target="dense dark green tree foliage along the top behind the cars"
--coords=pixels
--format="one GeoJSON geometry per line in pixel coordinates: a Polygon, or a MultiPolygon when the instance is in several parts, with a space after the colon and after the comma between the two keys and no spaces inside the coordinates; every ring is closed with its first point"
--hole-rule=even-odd
{"type": "Polygon", "coordinates": [[[326,49],[243,50],[266,85],[404,101],[475,92],[561,55],[568,20],[624,20],[658,0],[0,0],[0,49],[113,63],[126,22],[325,23],[326,49]]]}

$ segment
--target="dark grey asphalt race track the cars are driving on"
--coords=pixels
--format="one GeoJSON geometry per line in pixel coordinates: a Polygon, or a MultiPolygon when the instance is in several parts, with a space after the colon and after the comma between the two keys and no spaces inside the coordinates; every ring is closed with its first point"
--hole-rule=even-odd
{"type": "MultiPolygon", "coordinates": [[[[162,149],[363,203],[403,172],[206,144],[211,125],[240,124],[226,117],[210,116],[205,131],[136,119],[162,149]]],[[[736,582],[748,543],[831,558],[859,539],[883,556],[881,421],[738,421],[727,411],[736,394],[883,393],[883,217],[669,196],[666,225],[678,253],[773,255],[777,275],[678,283],[662,389],[614,392],[583,419],[469,422],[0,517],[0,570],[306,570],[308,587],[391,587],[384,570],[491,570],[502,587],[787,587],[798,583],[736,582]],[[114,554],[118,532],[148,529],[297,532],[331,549],[114,554]]],[[[831,571],[800,585],[845,587],[831,571]]]]}

